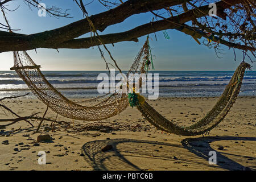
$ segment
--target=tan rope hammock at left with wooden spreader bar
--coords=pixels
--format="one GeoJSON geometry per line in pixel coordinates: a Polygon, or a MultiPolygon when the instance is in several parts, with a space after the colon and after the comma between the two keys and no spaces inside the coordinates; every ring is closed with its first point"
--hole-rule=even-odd
{"type": "MultiPolygon", "coordinates": [[[[114,94],[106,94],[105,96],[82,101],[83,105],[68,100],[47,81],[40,71],[40,65],[36,65],[26,51],[15,51],[13,55],[14,67],[11,70],[15,70],[31,92],[59,115],[82,121],[100,121],[121,113],[129,104],[127,94],[122,93],[121,89],[117,89],[114,94]]],[[[137,57],[135,57],[127,75],[130,73],[144,73],[149,55],[147,40],[137,57]]]]}

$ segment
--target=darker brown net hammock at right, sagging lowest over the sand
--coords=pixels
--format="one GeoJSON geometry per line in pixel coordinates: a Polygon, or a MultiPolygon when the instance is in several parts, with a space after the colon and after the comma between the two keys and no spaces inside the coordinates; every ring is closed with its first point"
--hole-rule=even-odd
{"type": "Polygon", "coordinates": [[[156,111],[146,101],[137,105],[137,108],[141,111],[142,115],[148,122],[154,125],[157,129],[166,131],[167,133],[183,136],[194,136],[208,133],[225,118],[226,114],[228,114],[236,101],[246,68],[250,68],[250,65],[247,63],[241,63],[238,66],[236,72],[234,72],[233,77],[213,109],[210,110],[203,119],[192,126],[180,127],[175,125],[175,123],[168,121],[168,119],[159,114],[158,111],[156,111]]]}

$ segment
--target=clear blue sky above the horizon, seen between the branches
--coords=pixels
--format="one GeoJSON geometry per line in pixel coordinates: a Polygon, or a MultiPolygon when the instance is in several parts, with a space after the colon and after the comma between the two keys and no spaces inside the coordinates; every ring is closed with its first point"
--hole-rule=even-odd
{"type": "MultiPolygon", "coordinates": [[[[33,34],[46,30],[52,30],[72,23],[76,20],[82,19],[82,13],[73,1],[56,0],[55,4],[51,0],[41,1],[46,3],[47,6],[56,5],[62,9],[69,9],[69,13],[73,18],[53,18],[47,15],[46,17],[39,17],[38,10],[32,8],[30,10],[23,1],[14,1],[9,3],[9,9],[15,9],[20,5],[19,9],[14,12],[7,13],[7,18],[10,21],[12,28],[21,29],[22,34],[33,34]]],[[[91,5],[86,6],[86,10],[90,15],[97,14],[107,9],[100,6],[98,1],[91,5]]],[[[109,34],[113,32],[122,32],[130,30],[140,24],[148,23],[152,20],[152,14],[145,13],[134,15],[126,19],[125,22],[109,26],[101,34],[109,34]]],[[[0,22],[4,22],[2,15],[0,22]]],[[[222,46],[223,49],[221,59],[219,59],[213,49],[205,47],[203,44],[199,45],[191,38],[175,30],[167,30],[170,36],[166,40],[163,32],[157,32],[156,36],[158,41],[155,40],[154,34],[150,35],[151,47],[153,48],[152,54],[155,55],[154,66],[155,70],[164,71],[180,71],[180,70],[202,70],[202,71],[215,71],[215,70],[234,70],[242,60],[242,51],[237,50],[237,61],[234,61],[233,49],[228,50],[227,47],[222,46]]],[[[86,34],[81,37],[89,36],[86,34]]],[[[146,36],[139,38],[139,42],[122,42],[108,45],[109,50],[121,69],[127,70],[132,64],[134,57],[141,49],[146,36]]],[[[203,38],[200,39],[203,42],[203,38]]],[[[104,50],[104,48],[102,48],[104,50]]],[[[89,49],[59,49],[59,53],[55,49],[36,49],[27,51],[36,64],[42,65],[42,70],[63,70],[63,71],[86,71],[86,70],[105,70],[106,66],[101,59],[100,52],[97,47],[89,49]]],[[[108,54],[105,52],[106,59],[111,62],[108,54]]],[[[0,70],[9,70],[13,67],[12,52],[0,53],[0,70]]],[[[253,68],[253,70],[255,70],[253,68]]]]}

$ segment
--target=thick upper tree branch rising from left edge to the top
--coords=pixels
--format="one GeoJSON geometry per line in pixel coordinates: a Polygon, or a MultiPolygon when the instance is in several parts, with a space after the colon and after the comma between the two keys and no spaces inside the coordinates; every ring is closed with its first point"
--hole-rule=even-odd
{"type": "MultiPolygon", "coordinates": [[[[92,15],[89,19],[93,22],[97,30],[104,31],[106,27],[121,23],[131,15],[159,10],[164,7],[175,6],[188,1],[192,0],[129,0],[114,9],[92,15]]],[[[85,18],[51,31],[27,36],[1,37],[0,52],[18,51],[21,49],[30,50],[49,45],[57,48],[58,43],[77,38],[90,31],[90,24],[88,19],[85,18]]]]}

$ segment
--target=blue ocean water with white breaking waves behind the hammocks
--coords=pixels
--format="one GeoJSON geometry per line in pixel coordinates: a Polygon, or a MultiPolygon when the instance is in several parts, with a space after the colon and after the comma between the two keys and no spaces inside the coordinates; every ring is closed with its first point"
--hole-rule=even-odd
{"type": "MultiPolygon", "coordinates": [[[[98,96],[97,76],[104,71],[43,71],[47,80],[69,98],[98,96]]],[[[125,73],[125,72],[124,72],[125,73]]],[[[152,71],[159,73],[159,97],[220,96],[234,71],[152,71]]],[[[154,85],[154,84],[153,84],[154,85]]],[[[0,98],[29,93],[13,71],[0,71],[0,98]]],[[[247,71],[240,96],[256,96],[256,71],[247,71]]],[[[32,93],[27,97],[35,98],[32,93]]]]}

